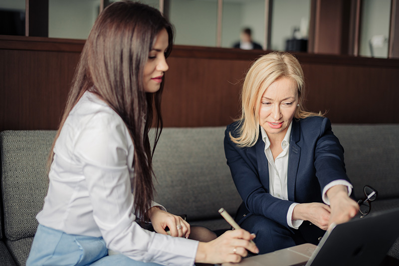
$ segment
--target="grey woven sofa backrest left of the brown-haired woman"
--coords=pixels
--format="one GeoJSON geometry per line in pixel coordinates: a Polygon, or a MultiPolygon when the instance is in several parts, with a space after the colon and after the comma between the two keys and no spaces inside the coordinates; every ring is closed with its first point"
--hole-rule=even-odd
{"type": "Polygon", "coordinates": [[[48,178],[46,161],[55,131],[3,131],[0,133],[1,190],[4,233],[15,241],[33,237],[36,214],[43,207],[48,178]]]}

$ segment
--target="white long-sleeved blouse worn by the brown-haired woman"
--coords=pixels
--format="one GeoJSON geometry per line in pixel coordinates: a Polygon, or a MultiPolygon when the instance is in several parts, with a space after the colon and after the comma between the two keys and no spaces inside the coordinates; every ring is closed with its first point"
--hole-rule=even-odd
{"type": "Polygon", "coordinates": [[[197,241],[156,234],[135,222],[133,150],[121,117],[85,92],[55,143],[38,222],[67,234],[103,237],[108,249],[136,261],[194,265],[197,241]]]}

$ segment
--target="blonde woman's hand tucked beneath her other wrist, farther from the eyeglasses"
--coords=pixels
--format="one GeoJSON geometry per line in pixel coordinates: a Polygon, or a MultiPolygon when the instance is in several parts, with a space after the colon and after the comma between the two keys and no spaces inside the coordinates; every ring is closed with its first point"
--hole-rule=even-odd
{"type": "Polygon", "coordinates": [[[318,202],[302,203],[294,207],[292,219],[309,221],[319,228],[327,230],[330,213],[331,208],[326,204],[318,202]]]}

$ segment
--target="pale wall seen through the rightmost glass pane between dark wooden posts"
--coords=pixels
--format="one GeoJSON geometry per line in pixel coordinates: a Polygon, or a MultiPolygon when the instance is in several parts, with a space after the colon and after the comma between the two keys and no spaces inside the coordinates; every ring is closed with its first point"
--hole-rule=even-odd
{"type": "Polygon", "coordinates": [[[391,0],[363,0],[359,54],[371,56],[369,41],[375,35],[384,35],[382,47],[374,47],[375,57],[388,57],[391,0]]]}

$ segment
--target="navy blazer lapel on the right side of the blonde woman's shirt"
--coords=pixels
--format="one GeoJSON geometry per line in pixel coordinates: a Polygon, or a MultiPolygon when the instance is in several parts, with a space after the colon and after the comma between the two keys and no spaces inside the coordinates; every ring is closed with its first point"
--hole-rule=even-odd
{"type": "Polygon", "coordinates": [[[292,121],[290,136],[290,152],[288,155],[287,189],[288,200],[295,201],[295,182],[298,172],[299,158],[301,157],[301,147],[297,145],[300,140],[301,128],[299,122],[292,121]]]}

